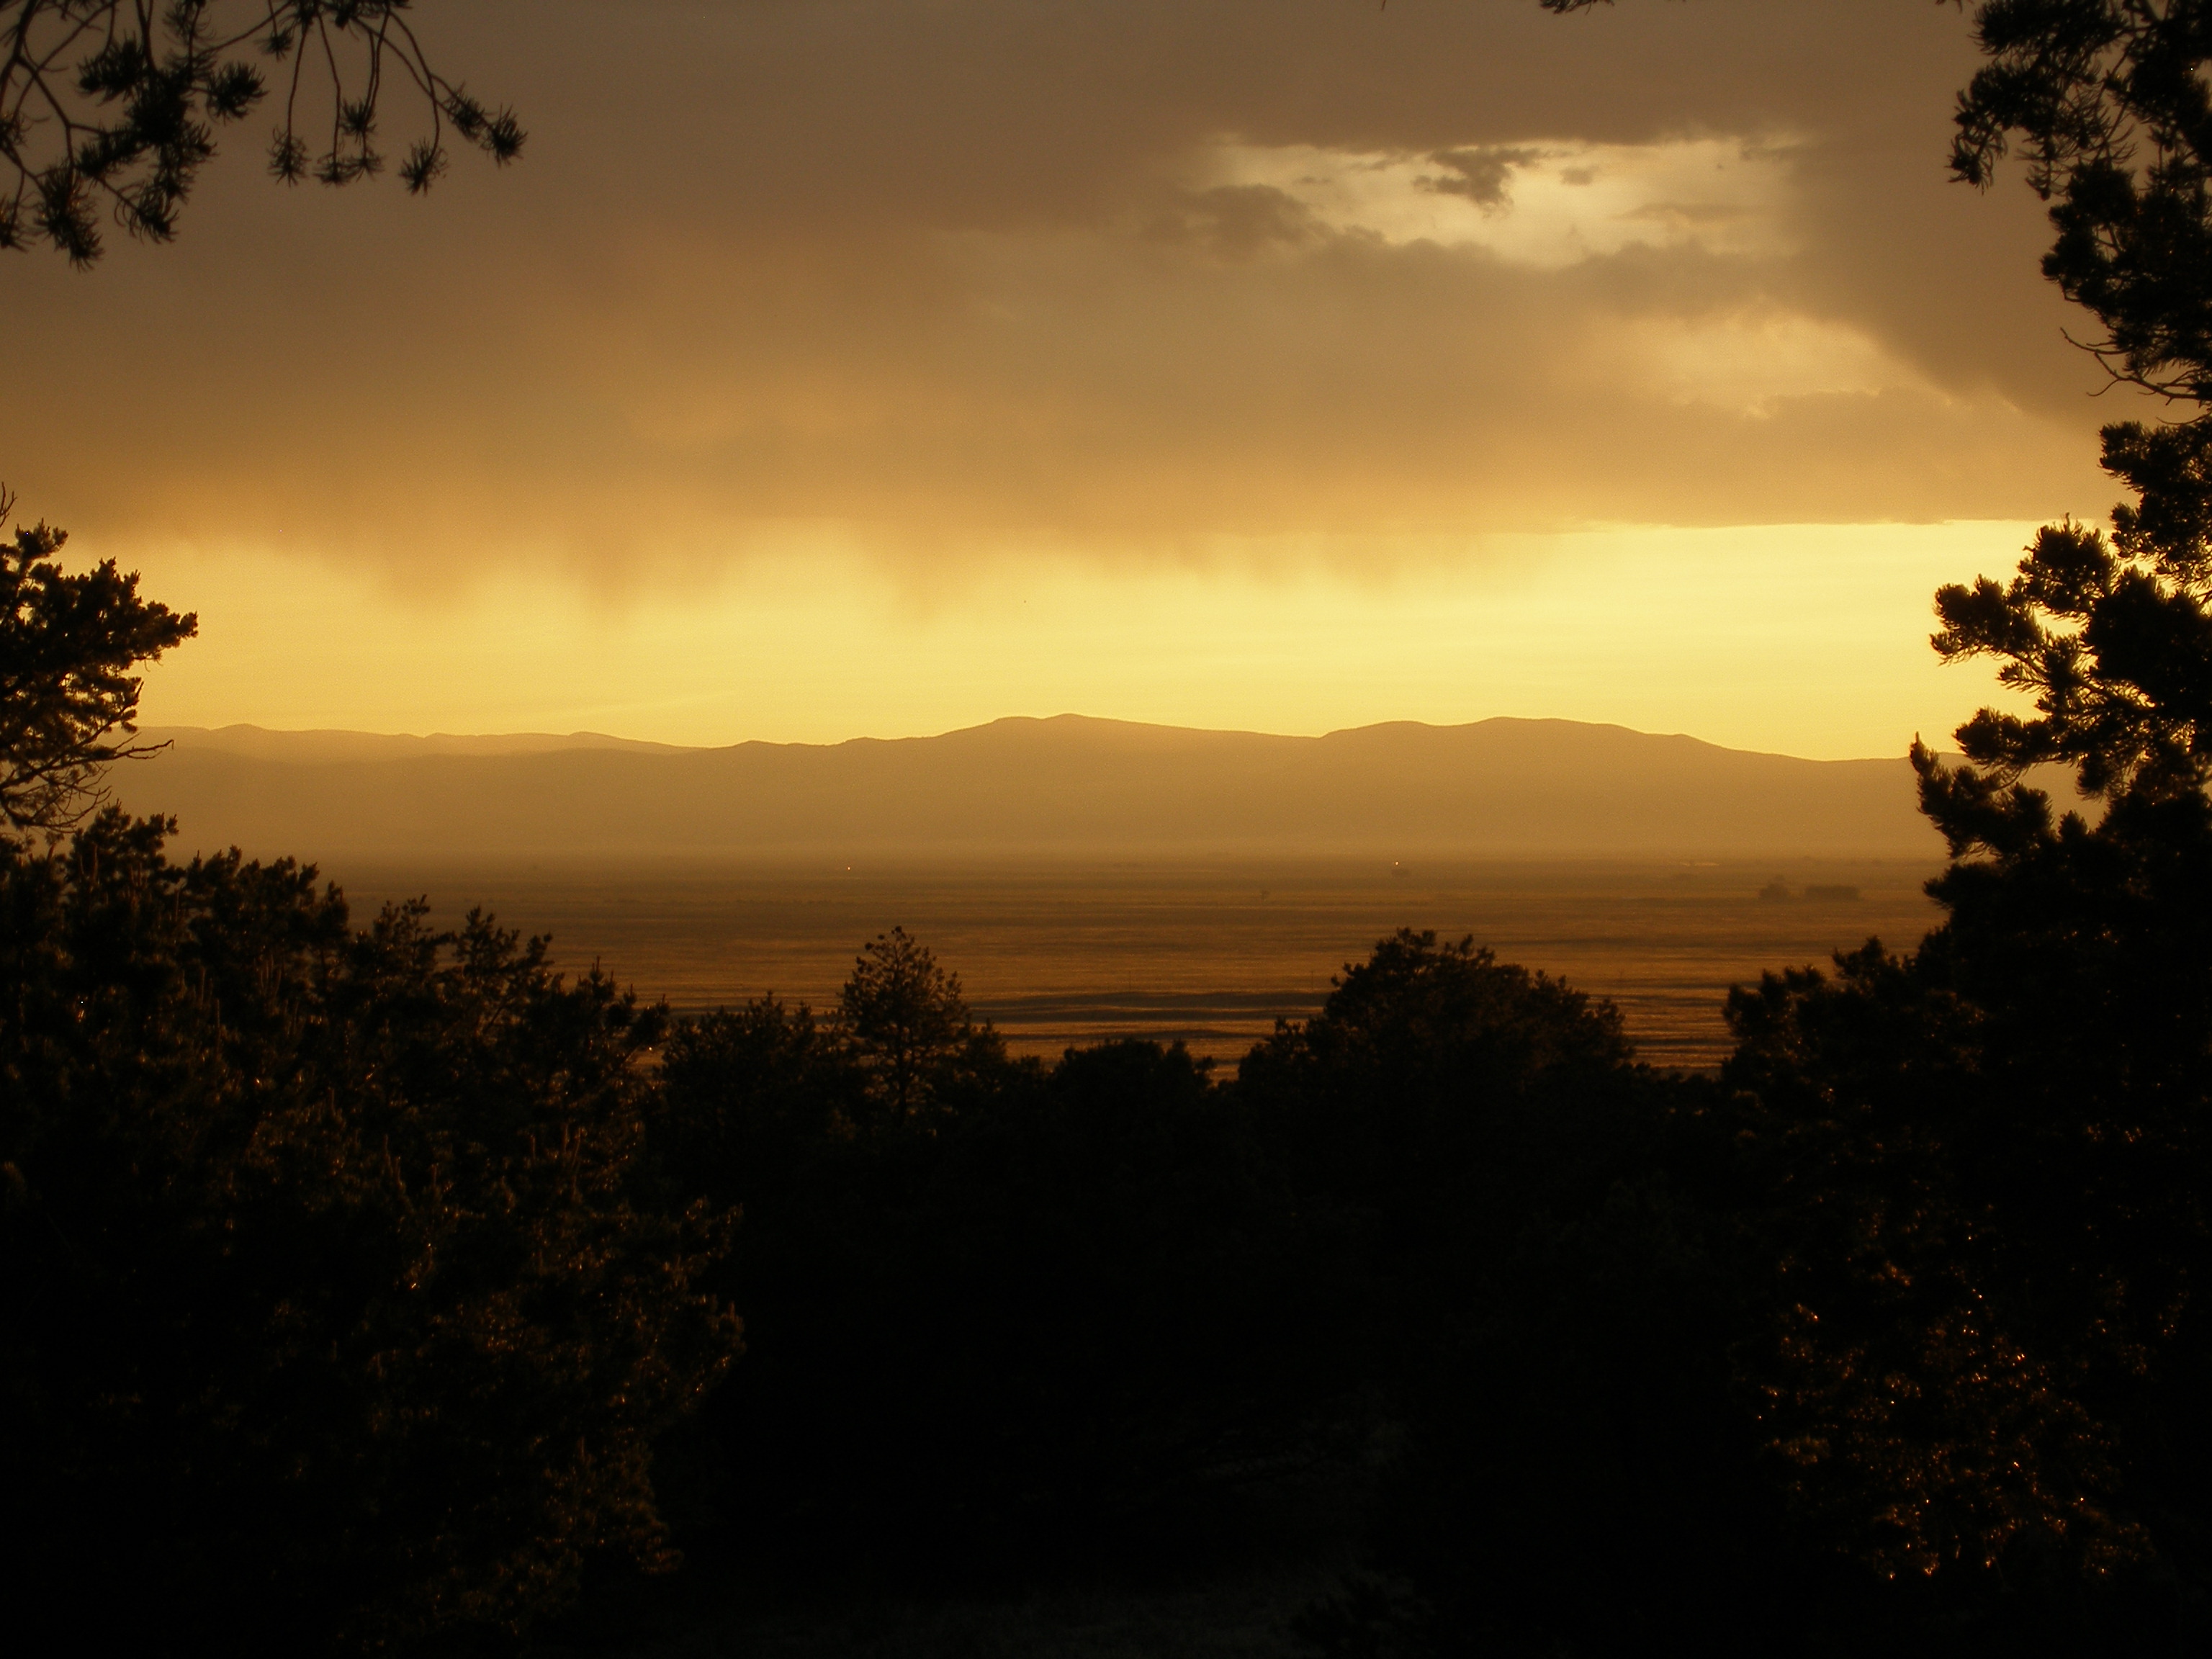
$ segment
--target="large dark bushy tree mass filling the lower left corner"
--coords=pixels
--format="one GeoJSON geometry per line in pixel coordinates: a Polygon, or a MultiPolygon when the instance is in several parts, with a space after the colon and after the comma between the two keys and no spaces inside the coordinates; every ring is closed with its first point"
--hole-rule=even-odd
{"type": "Polygon", "coordinates": [[[653,1015],[115,814],[0,843],[0,907],[18,1617],[394,1646],[670,1559],[650,1447],[737,1325],[728,1219],[639,1203],[653,1015]]]}

